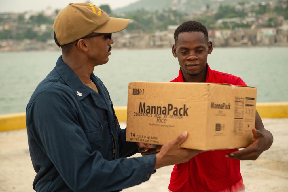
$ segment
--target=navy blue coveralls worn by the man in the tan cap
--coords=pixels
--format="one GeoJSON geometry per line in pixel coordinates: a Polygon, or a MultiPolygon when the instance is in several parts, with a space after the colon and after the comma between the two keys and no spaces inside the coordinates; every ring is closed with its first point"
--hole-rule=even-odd
{"type": "Polygon", "coordinates": [[[126,142],[109,93],[91,74],[99,94],[84,85],[59,57],[26,109],[36,191],[120,191],[149,180],[156,155],[126,142]]]}

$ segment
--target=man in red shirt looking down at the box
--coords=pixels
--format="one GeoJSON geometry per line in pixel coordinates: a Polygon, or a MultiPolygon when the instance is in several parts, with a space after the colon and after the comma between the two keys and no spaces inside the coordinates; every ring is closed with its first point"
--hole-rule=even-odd
{"type": "MultiPolygon", "coordinates": [[[[204,25],[196,21],[181,24],[174,32],[174,57],[180,64],[179,76],[172,82],[212,82],[244,85],[234,75],[211,70],[207,56],[212,52],[212,42],[204,25]]],[[[264,129],[256,112],[253,143],[243,150],[215,150],[199,153],[187,163],[175,165],[169,185],[170,192],[245,191],[240,173],[240,160],[255,160],[273,142],[272,134],[264,129]]]]}

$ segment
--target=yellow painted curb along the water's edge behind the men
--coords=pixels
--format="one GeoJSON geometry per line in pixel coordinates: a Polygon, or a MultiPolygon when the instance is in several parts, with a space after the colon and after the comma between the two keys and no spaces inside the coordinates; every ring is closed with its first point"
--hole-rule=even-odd
{"type": "MultiPolygon", "coordinates": [[[[118,121],[127,120],[127,106],[114,107],[118,121]]],[[[261,118],[288,118],[288,102],[257,103],[261,118]]],[[[0,132],[26,129],[26,113],[0,115],[0,132]]]]}

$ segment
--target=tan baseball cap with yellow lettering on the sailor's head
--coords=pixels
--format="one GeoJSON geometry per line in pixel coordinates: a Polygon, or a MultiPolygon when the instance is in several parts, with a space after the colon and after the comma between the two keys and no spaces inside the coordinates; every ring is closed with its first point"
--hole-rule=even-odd
{"type": "Polygon", "coordinates": [[[109,17],[91,3],[69,3],[56,17],[53,29],[60,45],[91,33],[115,33],[127,27],[129,19],[109,17]]]}

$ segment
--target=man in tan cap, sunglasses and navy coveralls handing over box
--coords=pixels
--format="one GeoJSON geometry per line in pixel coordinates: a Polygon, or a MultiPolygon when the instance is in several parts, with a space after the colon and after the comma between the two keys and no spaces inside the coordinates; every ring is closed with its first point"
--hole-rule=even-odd
{"type": "Polygon", "coordinates": [[[36,191],[120,191],[200,153],[179,147],[186,131],[161,150],[126,142],[126,129],[120,129],[109,93],[93,70],[108,62],[111,33],[128,23],[90,3],[70,3],[55,19],[62,56],[26,109],[36,191]],[[125,158],[139,152],[145,156],[125,158]]]}

